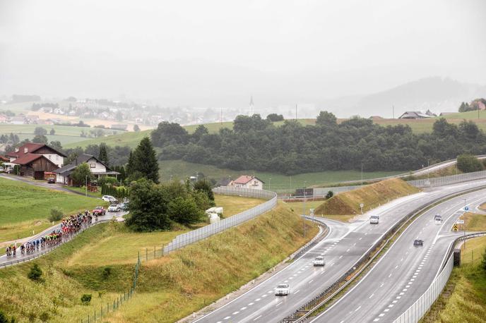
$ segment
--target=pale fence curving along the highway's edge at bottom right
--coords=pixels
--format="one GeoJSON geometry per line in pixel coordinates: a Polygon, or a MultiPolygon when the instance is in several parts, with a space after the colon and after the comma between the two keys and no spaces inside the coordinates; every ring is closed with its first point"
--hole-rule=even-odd
{"type": "Polygon", "coordinates": [[[425,315],[425,313],[427,313],[432,304],[434,304],[435,300],[437,300],[439,295],[442,293],[444,286],[446,286],[447,281],[449,280],[449,276],[451,276],[452,268],[454,267],[454,253],[452,252],[452,250],[454,250],[454,245],[457,243],[457,241],[484,235],[484,232],[473,233],[466,236],[461,236],[460,238],[454,240],[454,243],[452,243],[449,250],[449,253],[451,253],[451,255],[449,256],[449,259],[447,260],[441,273],[437,277],[435,277],[434,281],[432,281],[432,284],[430,284],[429,288],[427,288],[427,291],[425,291],[425,293],[423,293],[420,298],[418,298],[415,303],[413,303],[413,305],[408,307],[408,309],[405,310],[402,315],[395,319],[393,323],[418,322],[425,315]]]}

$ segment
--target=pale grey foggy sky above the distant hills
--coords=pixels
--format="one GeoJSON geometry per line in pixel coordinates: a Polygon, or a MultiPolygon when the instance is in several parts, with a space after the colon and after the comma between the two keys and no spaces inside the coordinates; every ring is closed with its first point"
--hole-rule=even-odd
{"type": "Polygon", "coordinates": [[[429,76],[485,85],[485,12],[482,0],[0,0],[0,95],[241,106],[429,76]]]}

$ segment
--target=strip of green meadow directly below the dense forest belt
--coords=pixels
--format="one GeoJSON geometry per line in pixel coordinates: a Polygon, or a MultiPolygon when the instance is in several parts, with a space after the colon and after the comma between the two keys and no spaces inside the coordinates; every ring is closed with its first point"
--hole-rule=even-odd
{"type": "MultiPolygon", "coordinates": [[[[170,181],[170,178],[187,178],[188,176],[203,173],[208,178],[216,181],[221,178],[236,179],[240,175],[254,175],[265,184],[263,188],[278,193],[295,192],[296,188],[325,187],[342,181],[358,181],[361,179],[360,171],[320,171],[317,173],[302,173],[294,176],[286,176],[280,173],[265,171],[234,171],[232,169],[220,169],[213,165],[194,164],[182,160],[163,160],[159,162],[160,180],[170,181]]],[[[396,175],[402,171],[372,171],[364,172],[363,179],[379,178],[396,175]]]]}

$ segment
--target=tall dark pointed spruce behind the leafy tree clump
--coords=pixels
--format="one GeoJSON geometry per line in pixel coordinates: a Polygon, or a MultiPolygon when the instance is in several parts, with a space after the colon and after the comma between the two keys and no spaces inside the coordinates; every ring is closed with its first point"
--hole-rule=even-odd
{"type": "Polygon", "coordinates": [[[132,159],[133,167],[130,169],[131,173],[139,171],[144,177],[152,180],[154,183],[159,182],[159,164],[152,142],[150,142],[148,137],[140,141],[132,159]]]}

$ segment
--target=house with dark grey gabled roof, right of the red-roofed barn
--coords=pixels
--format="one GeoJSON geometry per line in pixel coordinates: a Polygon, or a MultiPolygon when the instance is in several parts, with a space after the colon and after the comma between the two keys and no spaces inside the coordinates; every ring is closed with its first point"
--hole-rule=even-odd
{"type": "Polygon", "coordinates": [[[56,173],[56,182],[63,183],[64,185],[73,185],[73,179],[71,178],[71,173],[73,173],[74,169],[78,165],[86,163],[90,166],[90,171],[93,173],[93,176],[96,178],[100,178],[100,176],[117,176],[119,172],[112,171],[109,167],[97,159],[91,154],[81,154],[79,155],[74,162],[71,164],[67,164],[60,169],[56,169],[54,173],[56,173]]]}

